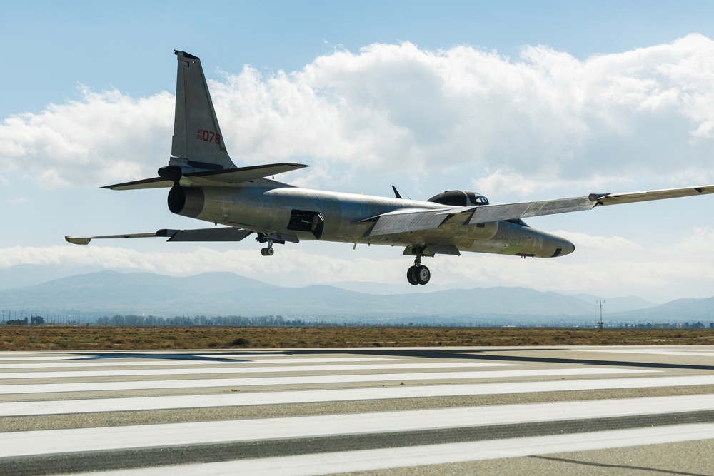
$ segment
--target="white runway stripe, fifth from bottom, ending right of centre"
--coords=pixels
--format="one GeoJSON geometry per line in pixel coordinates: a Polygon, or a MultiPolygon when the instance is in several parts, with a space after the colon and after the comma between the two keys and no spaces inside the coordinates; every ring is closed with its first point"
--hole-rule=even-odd
{"type": "MultiPolygon", "coordinates": [[[[184,364],[186,365],[186,364],[184,364]]],[[[290,373],[290,372],[351,372],[353,370],[413,370],[413,369],[444,369],[444,368],[482,368],[482,367],[512,367],[522,364],[488,363],[488,362],[423,362],[423,363],[389,363],[389,364],[348,364],[348,365],[283,365],[277,367],[246,366],[244,363],[225,365],[218,368],[153,368],[132,370],[56,370],[52,372],[5,372],[0,373],[3,379],[26,378],[99,378],[99,377],[139,377],[142,375],[210,375],[221,373],[290,373]]]]}

